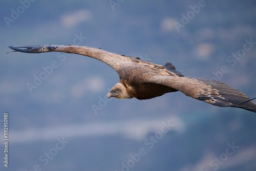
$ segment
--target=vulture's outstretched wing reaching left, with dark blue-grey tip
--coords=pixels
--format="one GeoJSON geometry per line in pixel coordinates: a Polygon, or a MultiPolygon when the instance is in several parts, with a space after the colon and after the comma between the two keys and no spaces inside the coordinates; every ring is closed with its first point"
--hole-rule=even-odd
{"type": "MultiPolygon", "coordinates": [[[[143,68],[155,68],[165,69],[162,65],[158,65],[153,62],[144,61],[137,57],[131,57],[126,55],[120,55],[109,51],[104,51],[99,48],[90,48],[84,46],[72,46],[72,45],[29,45],[29,46],[9,46],[12,52],[24,52],[24,53],[44,53],[44,52],[65,52],[74,53],[84,56],[89,56],[98,59],[110,67],[112,67],[119,75],[123,71],[123,67],[143,67],[143,68]]],[[[167,65],[167,63],[166,63],[167,65]]],[[[169,67],[168,65],[167,67],[169,67]]],[[[174,66],[173,66],[174,67],[174,66]]],[[[167,70],[166,70],[167,71],[167,70]]],[[[176,71],[175,67],[169,70],[169,74],[177,76],[172,71],[176,71]]],[[[178,72],[179,73],[179,72],[178,72]]]]}

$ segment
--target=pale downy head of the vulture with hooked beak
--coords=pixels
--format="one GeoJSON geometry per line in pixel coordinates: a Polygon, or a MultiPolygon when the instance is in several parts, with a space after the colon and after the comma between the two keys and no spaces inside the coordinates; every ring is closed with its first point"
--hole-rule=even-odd
{"type": "Polygon", "coordinates": [[[111,91],[108,93],[108,98],[115,97],[118,99],[130,99],[133,98],[132,96],[129,95],[127,92],[127,89],[125,86],[123,86],[122,83],[117,83],[115,86],[111,89],[111,91]]]}

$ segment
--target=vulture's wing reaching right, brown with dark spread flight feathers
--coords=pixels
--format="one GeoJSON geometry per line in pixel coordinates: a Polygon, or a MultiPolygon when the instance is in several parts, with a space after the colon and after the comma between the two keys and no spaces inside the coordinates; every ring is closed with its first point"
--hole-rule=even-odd
{"type": "Polygon", "coordinates": [[[221,107],[242,108],[256,112],[256,104],[244,93],[227,84],[204,78],[153,76],[148,82],[174,88],[186,96],[221,107]]]}

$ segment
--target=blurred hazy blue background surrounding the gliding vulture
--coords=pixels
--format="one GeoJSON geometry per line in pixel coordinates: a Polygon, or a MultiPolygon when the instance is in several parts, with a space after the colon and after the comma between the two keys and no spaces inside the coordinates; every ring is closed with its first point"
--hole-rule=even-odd
{"type": "Polygon", "coordinates": [[[4,112],[10,137],[9,167],[1,157],[1,170],[256,170],[255,113],[180,92],[105,101],[119,77],[103,62],[55,52],[6,54],[8,46],[80,44],[161,65],[172,62],[185,76],[212,78],[226,66],[219,80],[253,98],[256,45],[235,64],[227,60],[245,39],[256,41],[256,1],[207,0],[195,16],[190,6],[201,1],[21,2],[0,6],[2,157],[4,112]],[[187,13],[191,19],[177,30],[174,24],[187,13]],[[14,19],[8,23],[7,17],[14,19]],[[30,93],[26,84],[52,61],[58,67],[30,93]],[[173,126],[161,136],[163,122],[173,126]],[[149,139],[155,136],[158,141],[149,139]],[[57,138],[69,141],[60,151],[57,138]],[[239,148],[227,155],[228,144],[239,148]],[[133,163],[130,154],[139,149],[145,155],[133,163]],[[39,160],[49,152],[54,157],[47,164],[39,160]],[[131,167],[124,168],[127,162],[131,167]]]}

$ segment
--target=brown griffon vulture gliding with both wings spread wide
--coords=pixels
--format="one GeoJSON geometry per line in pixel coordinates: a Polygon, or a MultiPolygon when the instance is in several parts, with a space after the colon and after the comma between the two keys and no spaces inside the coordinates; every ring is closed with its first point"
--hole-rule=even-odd
{"type": "Polygon", "coordinates": [[[108,98],[151,99],[165,93],[180,91],[206,103],[221,106],[242,108],[256,113],[256,104],[244,93],[227,84],[210,79],[185,77],[176,70],[172,63],[164,66],[144,61],[137,57],[120,55],[99,48],[72,45],[32,45],[10,46],[12,52],[44,53],[66,52],[98,59],[119,75],[119,82],[108,93],[108,98]]]}

